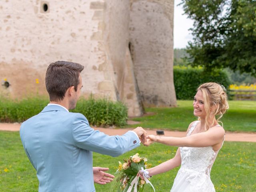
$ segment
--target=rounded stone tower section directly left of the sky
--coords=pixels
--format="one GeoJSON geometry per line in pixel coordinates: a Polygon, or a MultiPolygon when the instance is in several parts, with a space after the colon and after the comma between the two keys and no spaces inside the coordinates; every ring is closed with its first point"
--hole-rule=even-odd
{"type": "Polygon", "coordinates": [[[134,72],[146,106],[175,106],[173,1],[132,0],[130,46],[134,72]]]}

